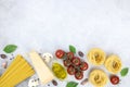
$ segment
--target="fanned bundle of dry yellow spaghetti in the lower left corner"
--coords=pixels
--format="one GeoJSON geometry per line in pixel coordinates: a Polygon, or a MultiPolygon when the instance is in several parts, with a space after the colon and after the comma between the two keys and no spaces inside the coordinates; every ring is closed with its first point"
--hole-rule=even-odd
{"type": "Polygon", "coordinates": [[[14,87],[34,74],[29,63],[18,54],[0,77],[0,87],[14,87]]]}

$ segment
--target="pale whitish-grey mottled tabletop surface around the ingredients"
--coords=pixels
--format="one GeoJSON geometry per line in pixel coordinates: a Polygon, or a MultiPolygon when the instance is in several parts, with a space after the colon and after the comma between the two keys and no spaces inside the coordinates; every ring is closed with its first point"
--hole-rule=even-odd
{"type": "MultiPolygon", "coordinates": [[[[17,45],[14,54],[24,55],[30,49],[54,53],[57,48],[67,50],[68,45],[87,54],[90,48],[100,47],[118,54],[123,66],[130,67],[129,4],[130,0],[0,0],[0,53],[6,44],[17,45]]],[[[129,79],[130,74],[119,86],[106,87],[129,87],[129,79]]],[[[27,87],[27,83],[17,87],[27,87]]],[[[57,87],[65,85],[60,82],[57,87]]]]}

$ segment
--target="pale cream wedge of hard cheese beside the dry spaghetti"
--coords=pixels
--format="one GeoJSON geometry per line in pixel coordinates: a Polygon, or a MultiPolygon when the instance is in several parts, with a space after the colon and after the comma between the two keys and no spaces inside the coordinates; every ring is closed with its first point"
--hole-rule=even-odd
{"type": "Polygon", "coordinates": [[[41,84],[47,84],[54,78],[51,70],[47,66],[47,64],[42,61],[40,55],[36,51],[31,51],[29,57],[32,61],[32,65],[40,78],[41,84]]]}

